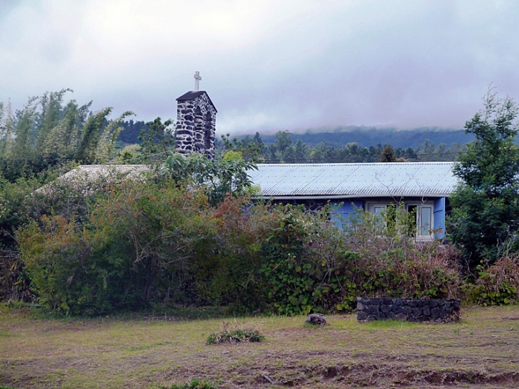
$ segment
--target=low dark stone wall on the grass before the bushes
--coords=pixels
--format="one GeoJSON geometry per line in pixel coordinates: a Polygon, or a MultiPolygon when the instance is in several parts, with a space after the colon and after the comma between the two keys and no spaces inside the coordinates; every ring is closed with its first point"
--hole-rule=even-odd
{"type": "Polygon", "coordinates": [[[357,297],[357,320],[397,319],[403,321],[459,320],[461,302],[449,299],[375,299],[357,297]]]}

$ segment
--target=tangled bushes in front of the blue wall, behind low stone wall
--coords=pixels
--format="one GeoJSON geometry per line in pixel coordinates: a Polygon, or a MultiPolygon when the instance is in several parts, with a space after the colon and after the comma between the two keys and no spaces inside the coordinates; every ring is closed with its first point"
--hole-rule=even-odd
{"type": "Polygon", "coordinates": [[[445,298],[459,294],[456,252],[415,245],[402,208],[359,211],[346,235],[318,215],[287,207],[262,245],[266,295],[280,314],[351,310],[355,297],[445,298]]]}

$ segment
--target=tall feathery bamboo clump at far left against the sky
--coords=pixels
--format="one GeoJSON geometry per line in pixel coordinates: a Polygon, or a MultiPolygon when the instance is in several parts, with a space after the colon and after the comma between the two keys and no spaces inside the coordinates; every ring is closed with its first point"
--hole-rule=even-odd
{"type": "Polygon", "coordinates": [[[21,110],[0,104],[0,171],[11,182],[63,161],[105,163],[112,157],[125,112],[115,120],[112,108],[90,112],[91,102],[64,101],[63,89],[31,97],[21,110]]]}

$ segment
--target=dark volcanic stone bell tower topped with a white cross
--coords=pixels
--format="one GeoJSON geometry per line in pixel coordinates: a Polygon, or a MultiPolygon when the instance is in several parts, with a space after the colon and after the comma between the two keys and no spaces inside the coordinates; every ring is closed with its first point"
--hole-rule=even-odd
{"type": "Polygon", "coordinates": [[[198,152],[215,159],[216,108],[205,90],[199,90],[200,73],[195,73],[195,90],[176,99],[176,151],[198,152]]]}

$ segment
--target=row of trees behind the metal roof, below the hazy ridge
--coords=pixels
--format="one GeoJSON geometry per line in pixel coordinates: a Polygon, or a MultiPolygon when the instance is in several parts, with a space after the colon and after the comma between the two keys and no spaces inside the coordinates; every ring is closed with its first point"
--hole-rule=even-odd
{"type": "Polygon", "coordinates": [[[279,131],[272,144],[264,144],[261,135],[246,135],[238,139],[223,136],[217,142],[217,152],[228,150],[242,152],[246,158],[267,164],[325,164],[325,163],[360,163],[360,162],[403,162],[403,161],[454,161],[466,144],[453,143],[450,146],[438,146],[428,139],[415,149],[394,149],[390,144],[377,146],[360,146],[348,143],[336,146],[322,142],[311,146],[297,139],[295,144],[290,132],[279,131]]]}

